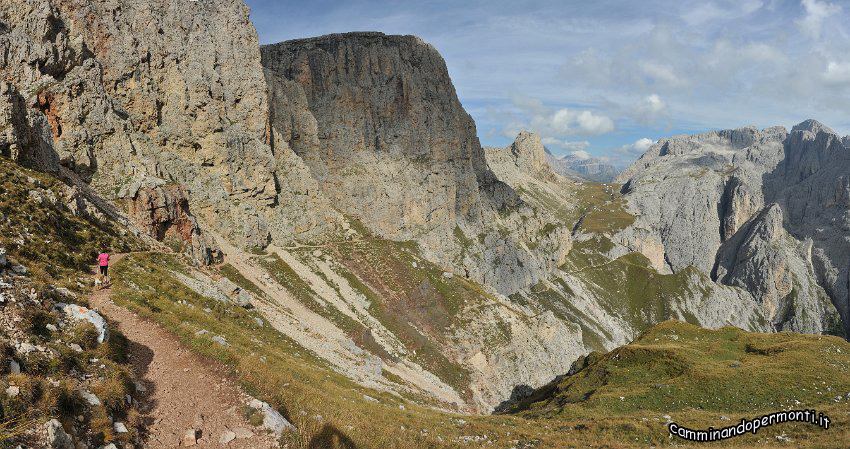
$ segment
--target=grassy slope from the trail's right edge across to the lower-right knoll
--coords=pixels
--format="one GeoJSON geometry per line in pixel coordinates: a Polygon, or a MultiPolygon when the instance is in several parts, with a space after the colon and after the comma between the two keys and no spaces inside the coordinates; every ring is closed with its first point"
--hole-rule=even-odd
{"type": "MultiPolygon", "coordinates": [[[[771,447],[777,444],[773,435],[786,433],[795,444],[803,442],[817,447],[816,443],[820,442],[820,447],[829,447],[824,444],[832,441],[831,438],[847,436],[842,426],[850,424],[845,404],[832,403],[834,395],[819,395],[812,390],[817,386],[817,376],[826,381],[827,374],[834,374],[836,379],[843,379],[828,385],[835,394],[844,386],[850,391],[848,361],[839,357],[818,362],[822,352],[817,352],[833,345],[845,348],[844,353],[850,354],[847,343],[832,337],[747,334],[734,329],[704,331],[684,323],[664,323],[647,332],[632,347],[600,356],[600,360],[612,360],[613,354],[621,354],[616,362],[621,369],[600,365],[605,367],[601,371],[610,373],[605,377],[607,383],[594,388],[592,376],[588,377],[581,385],[597,392],[587,401],[568,403],[562,408],[552,401],[538,401],[526,404],[528,408],[519,416],[444,413],[352,383],[278,332],[268,326],[257,326],[254,312],[202,298],[179,284],[171,271],[186,269],[171,256],[130,256],[116,267],[115,297],[171,329],[194,351],[231,366],[233,375],[247,391],[274,404],[298,427],[297,432],[284,437],[290,448],[670,446],[676,442],[667,437],[666,421],[662,418],[665,414],[692,427],[716,426],[724,422],[719,421],[721,414],[734,420],[764,408],[781,408],[781,404],[768,400],[773,396],[811,401],[804,403],[823,409],[835,420],[834,431],[818,432],[810,426],[783,424],[760,432],[755,438],[735,439],[715,446],[771,447]],[[181,305],[179,300],[193,307],[181,305]],[[212,309],[212,313],[205,313],[205,307],[212,309]],[[209,335],[195,335],[199,329],[209,330],[210,335],[225,336],[231,346],[216,345],[209,335]],[[654,340],[656,336],[670,335],[671,329],[675,329],[679,340],[669,337],[654,340]],[[747,344],[751,345],[750,352],[746,350],[747,344]],[[789,349],[776,352],[776,347],[789,349]],[[680,351],[681,355],[677,355],[680,351]],[[708,351],[710,357],[702,360],[701,351],[708,351]],[[776,353],[761,355],[764,352],[776,353]],[[646,355],[654,353],[661,354],[658,360],[646,355]],[[724,368],[730,360],[741,362],[742,367],[724,368]],[[627,363],[630,369],[626,369],[627,363]],[[785,368],[780,369],[781,366],[785,368]],[[805,374],[811,366],[816,371],[805,374]],[[683,369],[693,379],[676,375],[683,369]],[[720,402],[712,403],[701,392],[729,384],[720,376],[725,376],[725,371],[749,379],[737,390],[728,390],[720,402]],[[365,400],[364,394],[380,402],[365,400]],[[620,396],[625,399],[621,401],[620,396]],[[322,421],[317,421],[315,415],[322,415],[322,421]]],[[[826,391],[827,385],[821,385],[818,389],[826,391]]]]}

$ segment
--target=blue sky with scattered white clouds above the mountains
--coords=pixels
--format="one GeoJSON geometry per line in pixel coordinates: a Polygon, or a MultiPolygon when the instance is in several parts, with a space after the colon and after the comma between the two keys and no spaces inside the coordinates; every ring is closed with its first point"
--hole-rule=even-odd
{"type": "Polygon", "coordinates": [[[247,0],[263,44],[413,34],[446,59],[481,142],[523,129],[623,166],[673,134],[816,118],[850,134],[850,3],[838,0],[247,0]]]}

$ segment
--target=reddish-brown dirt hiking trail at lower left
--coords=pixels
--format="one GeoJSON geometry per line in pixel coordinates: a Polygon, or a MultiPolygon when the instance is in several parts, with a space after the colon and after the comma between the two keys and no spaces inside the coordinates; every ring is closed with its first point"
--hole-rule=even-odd
{"type": "MultiPolygon", "coordinates": [[[[113,255],[110,265],[123,258],[113,255]]],[[[89,298],[129,340],[146,448],[272,448],[274,437],[245,418],[250,400],[217,362],[192,353],[157,323],[115,304],[107,285],[89,298]],[[196,430],[197,439],[190,436],[196,430]]]]}

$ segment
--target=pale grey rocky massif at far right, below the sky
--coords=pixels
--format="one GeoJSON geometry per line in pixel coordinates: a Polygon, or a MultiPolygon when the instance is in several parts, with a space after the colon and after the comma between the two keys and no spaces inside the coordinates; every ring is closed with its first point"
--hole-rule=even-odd
{"type": "Polygon", "coordinates": [[[846,151],[813,120],[662,139],[619,177],[638,218],[615,240],[746,289],[775,329],[841,332],[846,151]]]}

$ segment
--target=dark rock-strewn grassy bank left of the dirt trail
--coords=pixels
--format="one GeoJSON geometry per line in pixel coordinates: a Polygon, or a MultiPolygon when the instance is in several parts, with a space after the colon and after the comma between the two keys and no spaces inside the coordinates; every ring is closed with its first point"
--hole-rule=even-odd
{"type": "MultiPolygon", "coordinates": [[[[15,433],[10,431],[12,428],[22,423],[39,426],[50,417],[62,421],[71,433],[88,434],[94,445],[129,441],[139,424],[137,412],[124,399],[132,393],[126,339],[113,331],[106,344],[98,345],[91,325],[70,323],[54,331],[47,325],[57,325],[60,318],[51,310],[54,301],[86,305],[90,266],[94,265],[98,250],[126,251],[140,244],[122,235],[111,223],[75,216],[64,206],[62,195],[63,186],[53,177],[0,158],[0,248],[8,250],[11,262],[28,270],[26,276],[15,280],[12,296],[17,302],[10,304],[7,299],[2,309],[7,318],[20,321],[0,329],[0,390],[16,385],[21,391],[16,397],[0,395],[0,444],[12,444],[11,447],[15,440],[6,439],[15,433]],[[70,289],[77,299],[61,297],[55,287],[70,289]],[[37,300],[23,299],[25,292],[31,290],[36,292],[37,300]],[[8,345],[12,338],[43,346],[52,355],[15,354],[8,345]],[[83,351],[73,351],[70,343],[79,344],[83,351]],[[12,358],[20,363],[21,374],[9,373],[12,358]],[[82,382],[84,377],[91,380],[82,382]],[[101,399],[102,405],[91,407],[81,399],[76,391],[83,384],[101,399]],[[110,417],[127,422],[131,433],[114,434],[110,417]]],[[[8,298],[10,292],[6,293],[8,298]]]]}

